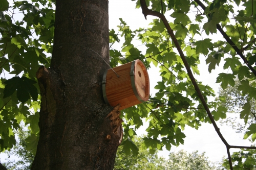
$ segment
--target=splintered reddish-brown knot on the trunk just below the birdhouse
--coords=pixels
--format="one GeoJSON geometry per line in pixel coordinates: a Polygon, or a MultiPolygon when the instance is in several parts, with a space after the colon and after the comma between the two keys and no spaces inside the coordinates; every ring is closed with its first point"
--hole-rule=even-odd
{"type": "Polygon", "coordinates": [[[109,118],[111,120],[111,126],[113,128],[113,133],[117,136],[119,136],[119,144],[122,141],[123,138],[123,128],[122,128],[122,122],[123,120],[119,117],[120,111],[118,111],[120,105],[117,105],[114,107],[114,110],[112,110],[106,118],[109,118]]]}

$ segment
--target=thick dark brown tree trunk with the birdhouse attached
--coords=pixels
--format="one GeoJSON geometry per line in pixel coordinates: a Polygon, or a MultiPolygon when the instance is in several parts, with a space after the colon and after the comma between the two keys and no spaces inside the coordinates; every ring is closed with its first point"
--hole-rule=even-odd
{"type": "Polygon", "coordinates": [[[31,169],[113,169],[122,120],[102,96],[108,1],[57,0],[54,34],[51,67],[37,71],[40,137],[31,169]]]}

